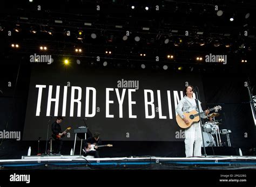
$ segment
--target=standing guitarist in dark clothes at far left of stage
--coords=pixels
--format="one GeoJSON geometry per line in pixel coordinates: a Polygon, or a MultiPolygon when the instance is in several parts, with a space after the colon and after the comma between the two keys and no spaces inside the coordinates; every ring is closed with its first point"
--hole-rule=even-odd
{"type": "Polygon", "coordinates": [[[52,131],[52,138],[55,139],[56,142],[56,153],[60,154],[63,146],[63,140],[62,137],[66,134],[66,132],[62,132],[62,127],[60,124],[62,123],[63,117],[58,116],[57,120],[51,125],[51,131],[52,131]],[[60,135],[60,138],[57,137],[57,135],[60,135]]]}

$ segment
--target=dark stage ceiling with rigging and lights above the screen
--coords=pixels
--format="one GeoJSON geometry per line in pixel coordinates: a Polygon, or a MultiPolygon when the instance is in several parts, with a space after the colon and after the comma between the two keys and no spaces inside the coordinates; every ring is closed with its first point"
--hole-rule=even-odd
{"type": "Polygon", "coordinates": [[[251,65],[256,62],[256,1],[9,0],[1,3],[1,55],[4,57],[42,53],[90,60],[100,56],[120,63],[156,63],[159,56],[157,63],[190,66],[201,63],[197,56],[218,54],[227,55],[228,66],[239,68],[242,59],[251,65]],[[223,15],[217,16],[220,10],[223,15]],[[15,32],[16,27],[20,32],[15,32]],[[31,33],[31,29],[36,33],[31,33]],[[65,31],[70,31],[70,35],[65,35],[65,31]],[[83,40],[77,39],[79,31],[83,31],[83,40]],[[127,31],[129,36],[123,40],[127,31]],[[92,33],[96,39],[91,37],[92,33]],[[140,40],[135,41],[135,37],[140,40]],[[11,44],[20,47],[11,48],[11,44]],[[40,51],[41,45],[48,50],[40,51]],[[75,48],[81,48],[82,53],[76,53],[75,48]],[[173,59],[166,57],[169,54],[173,59]]]}

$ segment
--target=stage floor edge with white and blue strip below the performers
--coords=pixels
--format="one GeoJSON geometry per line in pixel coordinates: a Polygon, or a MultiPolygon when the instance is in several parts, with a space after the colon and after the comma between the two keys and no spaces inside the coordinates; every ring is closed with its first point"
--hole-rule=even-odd
{"type": "Polygon", "coordinates": [[[256,156],[207,157],[113,157],[82,155],[22,156],[22,159],[0,160],[3,169],[256,169],[256,156]]]}

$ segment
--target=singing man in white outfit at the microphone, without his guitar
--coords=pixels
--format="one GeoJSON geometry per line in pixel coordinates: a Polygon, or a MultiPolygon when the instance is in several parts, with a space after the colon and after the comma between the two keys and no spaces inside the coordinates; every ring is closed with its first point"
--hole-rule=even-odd
{"type": "MultiPolygon", "coordinates": [[[[183,115],[184,112],[191,112],[192,110],[197,110],[197,99],[193,98],[193,86],[188,85],[184,88],[185,97],[180,99],[179,104],[177,105],[176,112],[179,116],[188,124],[188,120],[183,115]]],[[[200,112],[202,112],[202,108],[199,101],[200,112]]],[[[199,112],[199,111],[198,111],[199,112]]],[[[206,110],[205,114],[201,115],[201,118],[207,118],[207,114],[210,111],[206,110]]],[[[201,156],[201,145],[203,143],[202,135],[201,135],[201,127],[200,123],[194,123],[190,128],[185,129],[185,153],[186,157],[192,156],[201,156]],[[194,152],[194,154],[193,154],[194,152]]]]}

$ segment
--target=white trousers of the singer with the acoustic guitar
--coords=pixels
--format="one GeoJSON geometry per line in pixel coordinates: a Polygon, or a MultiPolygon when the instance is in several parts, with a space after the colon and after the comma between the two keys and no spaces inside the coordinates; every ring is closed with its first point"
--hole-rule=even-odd
{"type": "Polygon", "coordinates": [[[186,157],[201,156],[201,145],[203,143],[200,123],[191,125],[185,130],[185,153],[186,157]],[[194,150],[194,155],[193,155],[194,150]]]}

